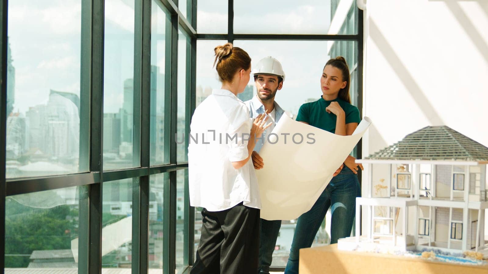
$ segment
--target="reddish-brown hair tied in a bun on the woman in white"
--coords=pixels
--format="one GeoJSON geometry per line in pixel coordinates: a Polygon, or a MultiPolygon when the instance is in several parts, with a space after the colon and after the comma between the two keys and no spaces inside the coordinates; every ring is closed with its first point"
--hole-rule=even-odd
{"type": "Polygon", "coordinates": [[[242,48],[234,47],[231,43],[216,46],[214,66],[221,82],[232,82],[236,72],[251,67],[251,58],[242,48]]]}

